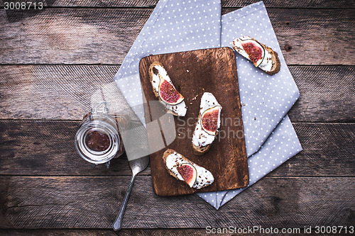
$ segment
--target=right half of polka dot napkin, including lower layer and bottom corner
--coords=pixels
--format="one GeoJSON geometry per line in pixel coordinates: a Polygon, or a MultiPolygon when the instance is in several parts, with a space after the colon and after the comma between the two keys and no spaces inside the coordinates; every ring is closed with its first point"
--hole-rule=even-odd
{"type": "MultiPolygon", "coordinates": [[[[241,113],[249,157],[249,187],[300,152],[302,147],[286,115],[298,99],[299,92],[283,59],[263,2],[222,16],[221,46],[231,47],[231,41],[243,35],[273,48],[281,62],[280,72],[270,76],[236,52],[241,113]]],[[[218,209],[246,188],[215,192],[218,193],[214,196],[215,203],[211,203],[211,197],[204,197],[203,193],[197,195],[218,209]]]]}

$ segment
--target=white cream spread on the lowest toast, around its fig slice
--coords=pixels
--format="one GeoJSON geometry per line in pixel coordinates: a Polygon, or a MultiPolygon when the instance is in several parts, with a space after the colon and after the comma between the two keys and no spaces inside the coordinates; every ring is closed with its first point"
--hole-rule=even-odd
{"type": "Polygon", "coordinates": [[[204,167],[200,167],[199,165],[193,163],[193,162],[187,162],[182,158],[182,155],[179,154],[178,152],[174,152],[166,158],[166,167],[170,169],[171,172],[175,174],[175,176],[178,177],[178,179],[184,181],[182,179],[182,176],[178,172],[178,166],[183,163],[190,163],[192,164],[197,171],[197,176],[196,176],[196,181],[195,184],[192,186],[192,188],[195,189],[201,189],[205,186],[209,186],[210,184],[213,183],[214,177],[211,172],[209,172],[207,169],[204,169],[204,167]]]}

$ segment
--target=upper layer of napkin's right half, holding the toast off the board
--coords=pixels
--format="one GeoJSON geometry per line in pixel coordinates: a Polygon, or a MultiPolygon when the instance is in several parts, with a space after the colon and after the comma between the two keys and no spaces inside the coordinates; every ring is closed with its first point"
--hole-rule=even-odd
{"type": "Polygon", "coordinates": [[[248,35],[278,52],[280,72],[268,75],[236,52],[241,113],[248,156],[258,151],[300,93],[283,58],[263,2],[222,16],[222,47],[248,35]]]}

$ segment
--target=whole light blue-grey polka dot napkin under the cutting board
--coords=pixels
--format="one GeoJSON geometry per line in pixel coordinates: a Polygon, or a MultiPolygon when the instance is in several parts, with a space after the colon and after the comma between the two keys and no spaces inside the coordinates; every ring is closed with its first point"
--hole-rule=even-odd
{"type": "MultiPolygon", "coordinates": [[[[288,71],[263,2],[221,16],[217,0],[160,0],[114,77],[145,124],[138,63],[150,54],[228,46],[249,35],[278,52],[281,69],[270,76],[236,53],[249,162],[249,186],[302,150],[286,115],[299,92],[288,71]]],[[[246,188],[244,188],[246,189],[246,188]]],[[[218,209],[244,189],[198,193],[218,209]]]]}

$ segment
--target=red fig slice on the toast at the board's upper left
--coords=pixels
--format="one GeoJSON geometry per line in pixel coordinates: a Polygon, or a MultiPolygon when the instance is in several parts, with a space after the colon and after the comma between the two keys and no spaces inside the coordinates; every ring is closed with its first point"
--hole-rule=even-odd
{"type": "Polygon", "coordinates": [[[168,80],[161,77],[160,74],[159,74],[159,78],[160,78],[160,83],[159,83],[160,99],[170,105],[176,105],[178,103],[181,103],[184,100],[184,97],[175,89],[173,84],[170,84],[170,82],[168,82],[168,80]]]}

